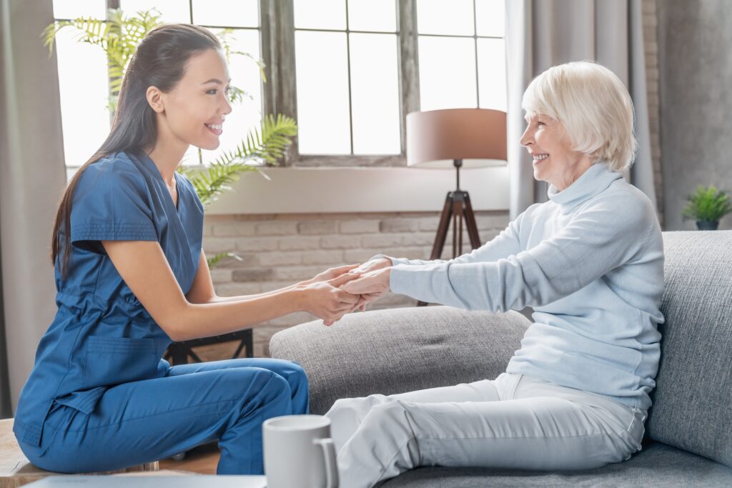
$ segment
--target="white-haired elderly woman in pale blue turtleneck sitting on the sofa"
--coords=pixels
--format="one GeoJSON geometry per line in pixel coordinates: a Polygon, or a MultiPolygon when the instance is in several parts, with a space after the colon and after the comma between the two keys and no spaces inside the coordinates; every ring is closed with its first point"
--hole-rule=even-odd
{"type": "Polygon", "coordinates": [[[495,380],[335,402],[344,487],[425,465],[597,468],[641,449],[663,247],[650,200],[621,175],[635,153],[630,96],[610,70],[576,62],[532,80],[522,105],[520,143],[549,200],[469,254],[379,255],[343,289],[363,303],[390,288],[465,309],[533,307],[534,323],[495,380]]]}

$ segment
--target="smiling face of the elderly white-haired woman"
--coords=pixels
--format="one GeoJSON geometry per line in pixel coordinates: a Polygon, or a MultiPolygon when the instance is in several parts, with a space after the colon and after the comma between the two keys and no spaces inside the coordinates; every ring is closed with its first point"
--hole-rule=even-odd
{"type": "Polygon", "coordinates": [[[572,149],[561,122],[541,114],[526,116],[526,122],[520,143],[533,158],[534,179],[547,181],[561,191],[592,165],[590,157],[572,149]]]}

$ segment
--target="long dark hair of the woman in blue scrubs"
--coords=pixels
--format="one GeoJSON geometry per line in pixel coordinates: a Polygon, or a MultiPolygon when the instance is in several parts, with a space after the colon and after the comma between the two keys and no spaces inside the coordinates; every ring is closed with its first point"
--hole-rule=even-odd
{"type": "Polygon", "coordinates": [[[140,151],[157,140],[155,112],[147,102],[146,91],[157,86],[171,91],[183,78],[188,60],[204,50],[219,49],[220,42],[203,27],[187,23],[168,23],[149,31],[132,55],[119,90],[112,128],[100,149],[79,168],[64,191],[56,211],[51,241],[51,263],[61,255],[61,277],[66,278],[71,256],[71,204],[81,173],[103,157],[117,151],[140,151]],[[63,235],[59,236],[61,225],[63,235]]]}

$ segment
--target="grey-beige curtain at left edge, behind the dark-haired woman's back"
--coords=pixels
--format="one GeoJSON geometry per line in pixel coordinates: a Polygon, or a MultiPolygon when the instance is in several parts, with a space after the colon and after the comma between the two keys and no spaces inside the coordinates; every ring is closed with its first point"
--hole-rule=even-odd
{"type": "Polygon", "coordinates": [[[0,0],[0,417],[56,312],[48,251],[66,171],[56,56],[40,38],[51,22],[52,0],[0,0]]]}

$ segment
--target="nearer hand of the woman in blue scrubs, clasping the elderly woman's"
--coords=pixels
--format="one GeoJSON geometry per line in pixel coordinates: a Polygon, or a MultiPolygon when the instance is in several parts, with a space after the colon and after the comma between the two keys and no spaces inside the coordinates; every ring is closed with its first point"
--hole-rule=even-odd
{"type": "Polygon", "coordinates": [[[343,273],[337,278],[299,285],[301,308],[323,319],[326,325],[335,323],[343,315],[351,312],[359,301],[358,295],[348,293],[340,287],[360,276],[356,273],[343,273]]]}

